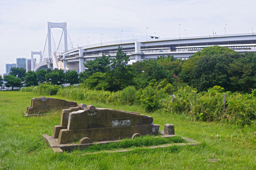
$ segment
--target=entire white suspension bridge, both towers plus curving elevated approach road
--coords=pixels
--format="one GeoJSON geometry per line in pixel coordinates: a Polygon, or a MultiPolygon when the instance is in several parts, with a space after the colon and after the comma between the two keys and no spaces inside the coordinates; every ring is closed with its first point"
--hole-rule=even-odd
{"type": "Polygon", "coordinates": [[[118,46],[129,58],[136,62],[145,59],[156,59],[160,55],[174,55],[175,58],[186,59],[205,47],[214,45],[228,47],[239,53],[256,53],[256,33],[208,35],[198,37],[178,37],[171,39],[149,39],[138,41],[138,39],[126,39],[120,41],[102,42],[74,48],[67,31],[67,24],[48,22],[48,33],[43,53],[31,52],[31,68],[34,71],[42,68],[62,68],[76,70],[78,73],[85,70],[84,63],[94,60],[102,55],[115,57],[118,46]],[[58,45],[54,40],[51,29],[62,28],[62,34],[58,45]],[[62,38],[64,36],[64,39],[62,38]],[[61,43],[63,42],[64,43],[61,43]],[[68,41],[70,49],[68,49],[68,41]],[[40,60],[36,61],[34,55],[39,55],[40,60]]]}

